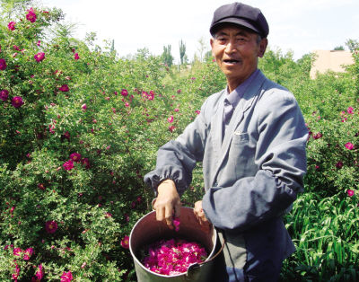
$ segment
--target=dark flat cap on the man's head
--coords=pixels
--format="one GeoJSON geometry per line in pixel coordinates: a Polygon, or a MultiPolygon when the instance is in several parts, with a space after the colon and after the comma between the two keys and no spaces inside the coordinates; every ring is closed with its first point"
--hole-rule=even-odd
{"type": "Polygon", "coordinates": [[[257,32],[262,38],[267,38],[269,26],[263,13],[258,8],[248,4],[224,4],[215,10],[209,31],[215,35],[216,28],[223,23],[234,23],[257,32]]]}

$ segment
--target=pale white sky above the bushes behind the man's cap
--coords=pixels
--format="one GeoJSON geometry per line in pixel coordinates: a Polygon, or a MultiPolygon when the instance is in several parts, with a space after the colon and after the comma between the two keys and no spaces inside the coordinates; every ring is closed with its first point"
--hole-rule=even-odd
{"type": "MultiPolygon", "coordinates": [[[[119,57],[148,48],[161,55],[171,45],[174,62],[180,60],[180,40],[192,60],[200,41],[210,50],[209,26],[215,9],[233,1],[219,0],[39,0],[66,13],[66,22],[77,23],[74,37],[83,40],[96,32],[96,43],[114,40],[119,57]]],[[[346,48],[347,40],[359,40],[358,0],[248,0],[269,24],[268,46],[298,59],[313,50],[346,48]]]]}

